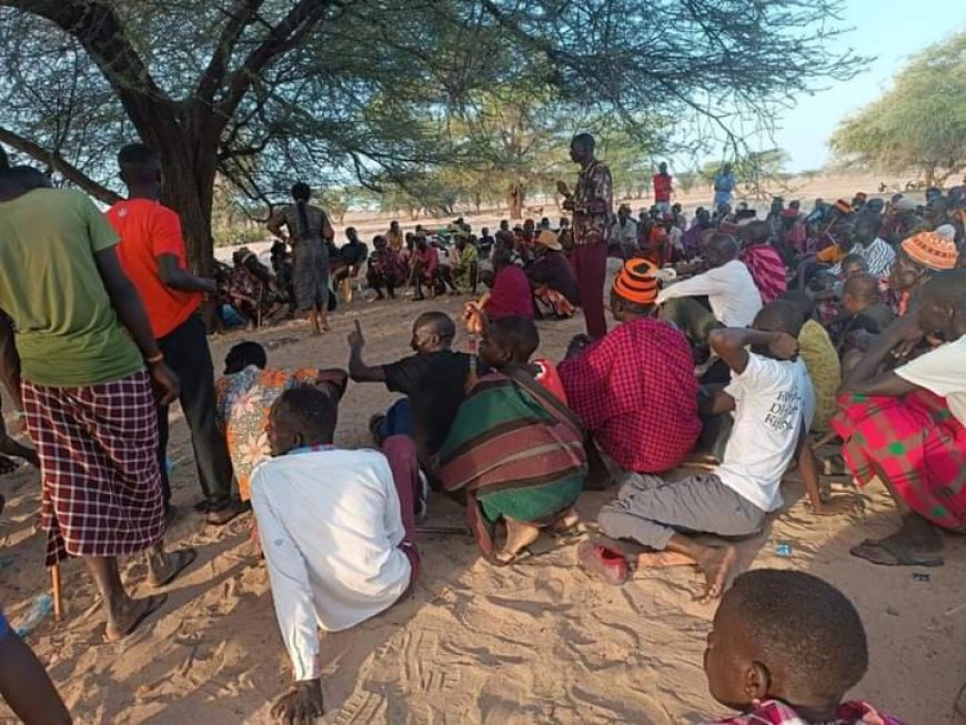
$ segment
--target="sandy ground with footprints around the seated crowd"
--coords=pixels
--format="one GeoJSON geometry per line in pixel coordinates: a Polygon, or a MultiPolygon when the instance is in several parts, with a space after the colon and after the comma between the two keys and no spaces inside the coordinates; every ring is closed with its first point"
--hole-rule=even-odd
{"type": "MultiPolygon", "coordinates": [[[[453,299],[355,302],[322,339],[305,336],[300,324],[214,338],[215,366],[245,336],[274,348],[273,365],[344,365],[345,336],[356,319],[366,333],[366,359],[388,362],[407,352],[419,312],[455,313],[459,305],[453,299]]],[[[539,326],[541,352],[552,358],[581,331],[578,321],[539,326]]],[[[368,445],[369,415],[390,401],[379,385],[351,385],[336,442],[368,445]]],[[[79,723],[269,722],[271,702],[290,683],[268,576],[248,541],[250,520],[217,530],[193,513],[200,492],[187,430],[175,417],[172,484],[184,513],[168,542],[198,547],[198,561],[170,586],[163,610],[114,645],[102,642],[92,582],[80,562],[67,562],[67,616],[46,621],[29,638],[79,723]]],[[[16,626],[49,586],[43,536],[34,528],[39,476],[21,470],[0,480],[0,492],[8,500],[0,518],[0,592],[16,626]]],[[[954,699],[966,681],[966,541],[947,536],[947,565],[919,581],[913,576],[919,570],[874,567],[848,555],[851,545],[895,527],[882,489],[866,491],[864,512],[842,518],[813,517],[794,481],[785,494],[787,510],[742,545],[742,567],[793,567],[839,586],[857,604],[872,648],[869,673],[853,695],[908,723],[954,722],[954,699]],[[791,545],[791,557],[778,556],[779,544],[791,545]]],[[[580,502],[588,535],[605,500],[605,493],[587,493],[580,502]]],[[[431,501],[427,524],[461,522],[454,504],[431,501]]],[[[542,538],[532,556],[495,568],[477,557],[467,536],[424,536],[423,575],[411,597],[354,630],[323,635],[326,722],[694,723],[725,714],[708,696],[701,667],[714,607],[693,601],[700,575],[691,568],[638,573],[614,588],[578,568],[576,542],[542,538]]],[[[142,560],[124,562],[135,594],[148,591],[144,575],[142,560]]],[[[11,721],[0,705],[0,722],[11,721]]]]}

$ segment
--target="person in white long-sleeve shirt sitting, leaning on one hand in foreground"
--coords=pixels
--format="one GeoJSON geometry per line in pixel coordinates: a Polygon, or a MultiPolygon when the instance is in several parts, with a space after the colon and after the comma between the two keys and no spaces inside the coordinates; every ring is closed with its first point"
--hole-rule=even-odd
{"type": "Polygon", "coordinates": [[[348,630],[388,610],[419,575],[411,439],[383,453],[332,445],[338,401],[312,387],[282,393],[269,421],[276,457],[252,475],[275,615],[295,684],[272,708],[283,722],[322,715],[318,627],[348,630]]]}

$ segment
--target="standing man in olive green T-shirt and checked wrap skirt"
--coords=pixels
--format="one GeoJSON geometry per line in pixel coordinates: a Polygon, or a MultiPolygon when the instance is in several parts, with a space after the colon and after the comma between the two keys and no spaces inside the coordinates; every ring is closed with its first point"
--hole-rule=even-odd
{"type": "MultiPolygon", "coordinates": [[[[161,587],[194,558],[165,554],[152,384],[165,400],[178,380],[164,365],[141,300],[121,271],[117,236],[77,191],[37,188],[36,171],[0,170],[0,309],[12,320],[20,390],[43,480],[47,564],[83,557],[117,641],[164,602],[132,600],[117,557],[148,551],[161,587]],[[147,371],[145,371],[147,367],[147,371]]],[[[0,325],[9,350],[12,331],[0,325]]]]}

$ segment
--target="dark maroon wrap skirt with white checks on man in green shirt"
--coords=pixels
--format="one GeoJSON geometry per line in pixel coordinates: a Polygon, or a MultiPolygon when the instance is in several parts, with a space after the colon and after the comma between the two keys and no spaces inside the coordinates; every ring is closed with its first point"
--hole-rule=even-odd
{"type": "Polygon", "coordinates": [[[145,372],[85,387],[24,380],[23,405],[40,456],[47,566],[161,541],[158,415],[145,372]]]}

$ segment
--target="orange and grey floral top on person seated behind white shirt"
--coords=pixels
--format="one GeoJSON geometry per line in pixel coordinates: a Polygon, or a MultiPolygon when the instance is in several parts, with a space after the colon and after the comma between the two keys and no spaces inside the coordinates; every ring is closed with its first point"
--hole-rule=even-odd
{"type": "Polygon", "coordinates": [[[260,370],[249,365],[215,383],[215,414],[228,440],[242,501],[251,497],[252,471],[271,456],[269,412],[272,403],[290,387],[309,384],[318,377],[315,369],[260,370]]]}

